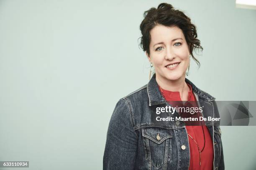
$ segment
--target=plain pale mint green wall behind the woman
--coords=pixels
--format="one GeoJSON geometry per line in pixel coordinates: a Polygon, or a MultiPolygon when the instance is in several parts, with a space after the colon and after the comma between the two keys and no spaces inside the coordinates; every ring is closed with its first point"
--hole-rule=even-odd
{"type": "MultiPolygon", "coordinates": [[[[235,0],[165,2],[192,18],[204,47],[189,80],[217,100],[256,100],[256,10],[235,0]]],[[[0,0],[0,160],[102,169],[116,102],[148,82],[137,39],[143,12],[159,3],[0,0]]],[[[256,169],[256,127],[221,129],[226,169],[256,169]]]]}

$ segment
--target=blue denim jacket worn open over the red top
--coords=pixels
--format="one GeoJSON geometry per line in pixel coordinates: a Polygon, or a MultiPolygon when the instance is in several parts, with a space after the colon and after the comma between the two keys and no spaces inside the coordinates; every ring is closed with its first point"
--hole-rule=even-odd
{"type": "MultiPolygon", "coordinates": [[[[192,86],[198,104],[204,106],[203,116],[219,117],[215,98],[187,78],[185,81],[192,86]]],[[[103,170],[188,170],[190,153],[185,126],[179,121],[171,121],[169,125],[151,121],[150,107],[163,103],[166,100],[159,91],[155,74],[147,85],[118,101],[108,126],[103,170]]],[[[205,123],[213,139],[213,169],[224,170],[220,127],[209,121],[205,123]]]]}

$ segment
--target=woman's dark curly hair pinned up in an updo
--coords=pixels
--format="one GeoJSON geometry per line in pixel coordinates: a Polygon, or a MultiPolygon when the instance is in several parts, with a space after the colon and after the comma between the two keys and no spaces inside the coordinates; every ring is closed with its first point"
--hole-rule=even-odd
{"type": "Polygon", "coordinates": [[[143,16],[144,19],[140,25],[142,34],[142,37],[140,37],[140,47],[143,49],[143,51],[146,51],[148,55],[150,54],[150,31],[156,25],[164,25],[167,27],[177,26],[182,30],[184,34],[187,45],[189,47],[189,53],[200,67],[200,62],[194,57],[193,50],[194,48],[203,50],[203,48],[200,45],[200,40],[197,39],[196,26],[191,23],[191,19],[189,17],[187,17],[180,10],[174,10],[174,7],[168,3],[159,4],[157,9],[155,7],[151,7],[149,10],[144,12],[143,16]]]}

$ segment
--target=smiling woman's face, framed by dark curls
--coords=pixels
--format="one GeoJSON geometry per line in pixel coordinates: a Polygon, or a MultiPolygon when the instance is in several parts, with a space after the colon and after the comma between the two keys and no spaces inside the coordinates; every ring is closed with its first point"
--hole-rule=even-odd
{"type": "Polygon", "coordinates": [[[182,30],[177,26],[157,25],[150,31],[150,55],[159,80],[179,80],[189,66],[189,48],[182,30]]]}

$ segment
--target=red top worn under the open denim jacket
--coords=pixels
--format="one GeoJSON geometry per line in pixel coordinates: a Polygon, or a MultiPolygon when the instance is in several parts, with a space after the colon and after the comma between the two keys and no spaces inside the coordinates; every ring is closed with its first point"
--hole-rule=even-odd
{"type": "MultiPolygon", "coordinates": [[[[189,85],[189,95],[188,101],[195,101],[195,96],[192,92],[192,87],[189,85]]],[[[161,92],[161,89],[159,87],[161,92]]],[[[166,101],[181,101],[179,92],[172,92],[162,89],[166,101]]],[[[201,126],[186,126],[187,133],[194,138],[188,136],[189,139],[189,151],[190,151],[190,161],[189,161],[189,170],[212,170],[213,169],[213,144],[212,139],[209,133],[207,126],[203,125],[205,133],[205,148],[201,152],[201,166],[200,166],[200,153],[198,151],[197,145],[194,140],[199,145],[199,149],[202,150],[204,146],[204,135],[201,126]]]]}

